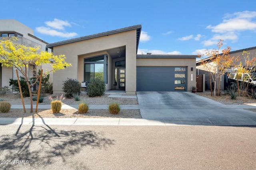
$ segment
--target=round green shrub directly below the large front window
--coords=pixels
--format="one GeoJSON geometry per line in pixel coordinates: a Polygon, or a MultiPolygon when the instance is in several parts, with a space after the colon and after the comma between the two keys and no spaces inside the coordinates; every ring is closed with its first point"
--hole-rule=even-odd
{"type": "Polygon", "coordinates": [[[102,96],[105,92],[106,85],[100,78],[90,79],[90,83],[87,85],[87,95],[89,97],[102,96]]]}

